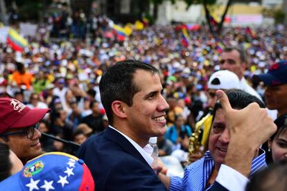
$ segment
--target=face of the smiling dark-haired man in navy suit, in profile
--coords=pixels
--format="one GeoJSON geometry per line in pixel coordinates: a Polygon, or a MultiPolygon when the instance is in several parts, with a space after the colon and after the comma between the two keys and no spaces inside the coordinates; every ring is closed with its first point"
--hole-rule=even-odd
{"type": "Polygon", "coordinates": [[[134,84],[139,89],[132,98],[132,106],[125,107],[128,126],[141,138],[163,136],[166,133],[166,110],[168,103],[162,96],[159,75],[138,70],[134,84]]]}

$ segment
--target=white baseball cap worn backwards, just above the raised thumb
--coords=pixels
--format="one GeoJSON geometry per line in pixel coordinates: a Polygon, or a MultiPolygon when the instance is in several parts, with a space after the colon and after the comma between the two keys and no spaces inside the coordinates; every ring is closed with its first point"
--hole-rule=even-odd
{"type": "Polygon", "coordinates": [[[237,75],[231,71],[216,71],[208,80],[208,89],[241,89],[237,75]]]}

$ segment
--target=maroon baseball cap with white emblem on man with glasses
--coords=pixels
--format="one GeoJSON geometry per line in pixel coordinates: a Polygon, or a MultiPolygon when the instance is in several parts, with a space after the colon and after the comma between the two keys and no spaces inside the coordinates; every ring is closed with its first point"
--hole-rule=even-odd
{"type": "Polygon", "coordinates": [[[9,128],[34,125],[51,109],[31,109],[13,98],[0,98],[0,134],[9,128]]]}

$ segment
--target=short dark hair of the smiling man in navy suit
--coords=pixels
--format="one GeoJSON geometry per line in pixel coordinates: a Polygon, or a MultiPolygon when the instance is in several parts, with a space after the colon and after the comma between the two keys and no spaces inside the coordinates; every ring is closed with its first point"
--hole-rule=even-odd
{"type": "Polygon", "coordinates": [[[137,70],[149,71],[150,73],[159,73],[159,71],[150,64],[138,60],[125,60],[116,62],[103,74],[100,81],[100,93],[101,101],[107,118],[112,125],[113,114],[112,114],[112,102],[119,100],[132,106],[132,98],[134,94],[140,89],[134,84],[134,73],[137,70]]]}

